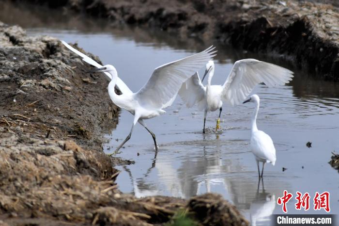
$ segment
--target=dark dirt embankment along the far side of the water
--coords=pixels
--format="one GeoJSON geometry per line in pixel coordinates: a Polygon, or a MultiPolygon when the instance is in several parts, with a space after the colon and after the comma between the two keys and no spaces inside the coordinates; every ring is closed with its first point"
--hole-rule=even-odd
{"type": "Polygon", "coordinates": [[[207,42],[217,39],[235,48],[286,58],[325,80],[339,81],[339,12],[333,6],[336,1],[25,1],[105,17],[113,23],[179,32],[207,42]]]}

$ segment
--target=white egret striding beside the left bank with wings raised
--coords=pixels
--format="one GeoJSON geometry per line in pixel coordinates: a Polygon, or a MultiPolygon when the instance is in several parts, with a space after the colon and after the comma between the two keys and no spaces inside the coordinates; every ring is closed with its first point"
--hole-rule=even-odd
{"type": "Polygon", "coordinates": [[[91,64],[96,69],[90,72],[105,72],[110,79],[108,84],[108,95],[118,107],[123,108],[134,115],[131,131],[121,145],[117,147],[115,153],[131,138],[134,126],[137,122],[141,124],[152,135],[155,150],[158,150],[154,133],[146,127],[143,119],[156,117],[166,113],[163,108],[169,107],[181,85],[185,82],[194,71],[199,70],[203,65],[211,60],[216,51],[211,46],[200,53],[188,56],[184,59],[161,65],[154,69],[154,72],[147,83],[137,92],[133,93],[127,85],[118,77],[117,70],[112,65],[100,65],[90,57],[72,48],[66,42],[63,45],[81,56],[83,61],[91,64]],[[114,92],[115,85],[118,86],[122,95],[114,92]]]}

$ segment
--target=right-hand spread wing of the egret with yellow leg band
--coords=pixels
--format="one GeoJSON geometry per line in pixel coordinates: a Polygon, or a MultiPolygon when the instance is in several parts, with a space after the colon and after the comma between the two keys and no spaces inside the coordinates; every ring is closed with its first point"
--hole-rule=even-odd
{"type": "Polygon", "coordinates": [[[233,106],[242,103],[261,82],[272,87],[288,83],[292,78],[293,72],[284,67],[255,59],[240,60],[235,62],[222,87],[222,98],[233,106]]]}

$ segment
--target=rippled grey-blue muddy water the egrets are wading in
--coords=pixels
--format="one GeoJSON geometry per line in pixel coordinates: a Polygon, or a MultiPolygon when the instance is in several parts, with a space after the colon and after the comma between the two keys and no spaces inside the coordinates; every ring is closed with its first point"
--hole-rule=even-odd
{"type": "MultiPolygon", "coordinates": [[[[164,63],[193,54],[208,45],[197,40],[181,40],[165,32],[139,28],[111,28],[105,21],[68,18],[60,12],[46,12],[6,4],[0,20],[19,24],[32,35],[48,34],[100,56],[104,64],[113,64],[119,76],[138,91],[153,69],[164,63]],[[6,16],[7,15],[7,16],[6,16]],[[25,15],[25,19],[22,16],[25,15]],[[53,15],[55,20],[46,19],[53,15]],[[28,23],[27,18],[31,18],[28,23]]],[[[270,214],[282,213],[276,204],[284,190],[292,193],[287,204],[295,210],[295,193],[311,195],[330,192],[331,213],[339,212],[339,175],[327,163],[331,152],[339,150],[339,84],[317,81],[312,75],[298,71],[284,62],[217,46],[216,73],[213,84],[222,84],[232,64],[242,58],[257,58],[286,66],[295,71],[293,81],[285,86],[267,88],[258,85],[253,93],[261,97],[258,127],[268,133],[277,149],[275,166],[266,164],[263,183],[258,183],[257,166],[249,149],[251,103],[235,107],[224,105],[221,128],[216,134],[218,112],[209,113],[207,134],[202,134],[203,113],[195,107],[187,109],[178,97],[161,117],[147,120],[154,131],[159,152],[154,155],[151,136],[141,126],[117,156],[135,161],[118,166],[119,188],[136,196],[170,195],[188,198],[215,192],[236,205],[253,225],[267,225],[270,214]],[[308,148],[306,143],[312,142],[308,148]],[[282,168],[287,170],[282,171],[282,168]]],[[[202,71],[200,71],[200,74],[202,71]]],[[[106,87],[103,87],[106,88],[106,87]]],[[[112,152],[128,134],[133,116],[122,111],[117,128],[107,132],[107,153],[112,152]]]]}

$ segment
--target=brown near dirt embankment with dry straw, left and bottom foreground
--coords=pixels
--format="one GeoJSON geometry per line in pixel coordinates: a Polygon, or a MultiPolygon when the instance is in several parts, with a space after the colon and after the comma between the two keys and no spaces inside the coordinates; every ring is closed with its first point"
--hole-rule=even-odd
{"type": "Polygon", "coordinates": [[[114,127],[117,108],[89,69],[59,40],[0,22],[0,225],[162,225],[179,210],[201,225],[248,225],[216,194],[122,194],[101,150],[100,124],[114,127]]]}

